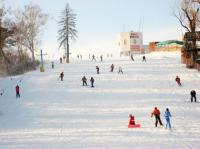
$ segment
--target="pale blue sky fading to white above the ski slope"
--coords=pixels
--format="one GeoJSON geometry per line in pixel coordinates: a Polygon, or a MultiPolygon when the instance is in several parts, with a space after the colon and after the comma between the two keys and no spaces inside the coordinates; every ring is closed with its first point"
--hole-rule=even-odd
{"type": "MultiPolygon", "coordinates": [[[[180,0],[4,0],[6,7],[20,8],[30,1],[51,16],[42,35],[41,48],[55,53],[57,21],[65,4],[77,14],[78,39],[72,53],[117,50],[122,31],[142,31],[144,44],[181,39],[182,31],[172,11],[180,0]]],[[[61,51],[60,51],[61,52],[61,51]]]]}

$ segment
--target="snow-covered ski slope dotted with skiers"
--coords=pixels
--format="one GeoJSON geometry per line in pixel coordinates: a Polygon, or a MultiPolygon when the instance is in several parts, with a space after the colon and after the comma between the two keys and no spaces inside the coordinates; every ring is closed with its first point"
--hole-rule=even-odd
{"type": "Polygon", "coordinates": [[[146,63],[141,57],[74,60],[56,63],[55,69],[48,63],[44,73],[1,78],[0,149],[199,149],[200,104],[190,103],[190,91],[196,90],[200,100],[200,73],[186,69],[178,53],[147,54],[146,63]],[[117,73],[119,66],[124,74],[117,73]],[[62,71],[64,81],[58,79],[62,71]],[[82,86],[84,75],[87,87],[82,86]],[[16,84],[20,99],[15,98],[16,84]],[[164,124],[169,108],[172,130],[155,128],[155,106],[164,124]],[[127,128],[130,113],[141,128],[127,128]]]}

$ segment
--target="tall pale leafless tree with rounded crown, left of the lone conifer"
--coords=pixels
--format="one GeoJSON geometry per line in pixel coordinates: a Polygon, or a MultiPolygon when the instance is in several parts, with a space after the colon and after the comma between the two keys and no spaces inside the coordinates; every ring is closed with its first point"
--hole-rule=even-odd
{"type": "Polygon", "coordinates": [[[47,22],[48,15],[42,13],[38,5],[30,3],[25,6],[23,11],[18,12],[17,18],[18,29],[21,34],[18,35],[18,39],[30,50],[33,63],[35,63],[35,51],[39,44],[39,34],[47,22]]]}

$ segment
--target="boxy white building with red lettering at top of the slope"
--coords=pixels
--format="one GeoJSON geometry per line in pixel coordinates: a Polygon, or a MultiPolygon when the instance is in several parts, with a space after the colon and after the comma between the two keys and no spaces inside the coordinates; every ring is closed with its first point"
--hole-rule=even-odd
{"type": "Polygon", "coordinates": [[[144,53],[141,32],[122,32],[118,37],[118,47],[121,55],[144,53]]]}

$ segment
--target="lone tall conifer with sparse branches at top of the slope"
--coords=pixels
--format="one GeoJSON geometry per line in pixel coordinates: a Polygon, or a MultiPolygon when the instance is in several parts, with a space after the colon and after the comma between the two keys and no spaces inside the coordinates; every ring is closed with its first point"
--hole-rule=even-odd
{"type": "Polygon", "coordinates": [[[69,63],[69,39],[76,40],[77,30],[76,30],[76,14],[70,8],[69,4],[66,4],[60,21],[58,22],[60,29],[58,30],[58,41],[60,42],[60,47],[65,49],[66,62],[69,63]]]}

